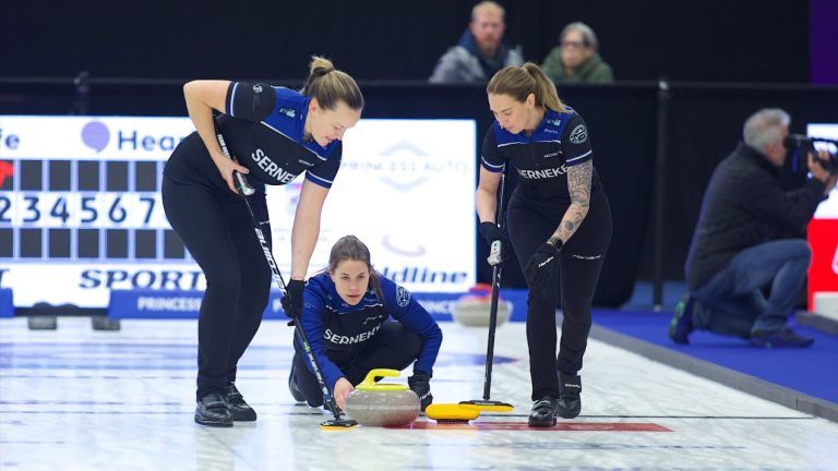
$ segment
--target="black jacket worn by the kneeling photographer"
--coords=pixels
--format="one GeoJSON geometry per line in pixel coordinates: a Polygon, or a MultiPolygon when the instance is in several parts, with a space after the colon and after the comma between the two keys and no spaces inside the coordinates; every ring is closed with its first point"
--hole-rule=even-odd
{"type": "Polygon", "coordinates": [[[809,179],[803,186],[785,191],[779,168],[740,143],[716,167],[704,194],[686,257],[689,289],[706,285],[747,247],[803,235],[824,190],[823,182],[809,179]]]}

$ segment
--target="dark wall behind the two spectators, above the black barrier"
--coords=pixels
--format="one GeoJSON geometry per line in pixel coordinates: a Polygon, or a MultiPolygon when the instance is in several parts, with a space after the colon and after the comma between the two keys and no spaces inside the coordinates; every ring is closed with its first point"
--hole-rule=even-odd
{"type": "MultiPolygon", "coordinates": [[[[312,53],[359,80],[424,80],[472,0],[3,0],[0,75],[297,78],[312,53]]],[[[540,62],[587,22],[620,80],[809,82],[804,0],[501,1],[540,62]]]]}

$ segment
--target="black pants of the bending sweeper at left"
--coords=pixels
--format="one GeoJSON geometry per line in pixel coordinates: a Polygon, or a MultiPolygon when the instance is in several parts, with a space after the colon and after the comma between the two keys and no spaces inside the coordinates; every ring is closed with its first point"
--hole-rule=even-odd
{"type": "MultiPolygon", "coordinates": [[[[210,392],[223,392],[236,381],[236,365],[262,323],[271,269],[243,201],[165,177],[161,190],[169,224],[206,278],[197,321],[200,400],[210,392]]],[[[270,244],[264,194],[250,203],[270,244]]]]}

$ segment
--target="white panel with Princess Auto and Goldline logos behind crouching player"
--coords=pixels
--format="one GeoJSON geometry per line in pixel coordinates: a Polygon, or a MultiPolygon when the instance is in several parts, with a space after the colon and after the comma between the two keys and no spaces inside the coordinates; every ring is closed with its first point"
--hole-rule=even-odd
{"type": "MultiPolygon", "coordinates": [[[[475,140],[467,120],[372,119],[347,131],[311,270],[327,266],[332,245],[352,234],[379,271],[410,291],[468,291],[477,265],[475,140]]],[[[267,188],[276,254],[291,251],[301,184],[267,188]]]]}

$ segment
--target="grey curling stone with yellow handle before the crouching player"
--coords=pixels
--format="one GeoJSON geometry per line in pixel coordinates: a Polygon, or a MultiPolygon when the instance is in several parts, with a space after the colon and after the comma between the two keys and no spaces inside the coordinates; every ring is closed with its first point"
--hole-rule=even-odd
{"type": "Polygon", "coordinates": [[[395,376],[396,370],[371,371],[346,398],[346,414],[367,426],[407,425],[419,416],[419,397],[406,385],[375,383],[376,377],[395,376]]]}

